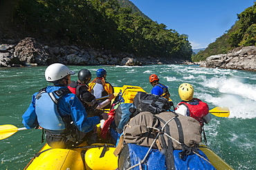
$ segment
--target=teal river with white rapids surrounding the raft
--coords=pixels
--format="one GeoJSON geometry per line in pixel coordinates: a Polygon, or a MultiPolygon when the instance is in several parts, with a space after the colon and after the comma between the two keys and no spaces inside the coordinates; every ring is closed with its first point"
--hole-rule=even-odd
{"type": "MultiPolygon", "coordinates": [[[[181,100],[178,87],[190,83],[194,97],[217,106],[230,108],[228,118],[212,116],[205,125],[209,147],[234,169],[255,169],[256,164],[256,72],[221,70],[199,65],[144,65],[144,66],[68,66],[76,73],[86,68],[95,77],[99,68],[107,70],[107,81],[113,86],[139,85],[150,92],[148,77],[157,74],[160,83],[167,85],[174,104],[181,100]]],[[[0,125],[22,125],[33,93],[51,85],[45,81],[46,66],[0,67],[0,125]]],[[[77,74],[71,76],[75,81],[77,74]]],[[[34,154],[42,148],[42,131],[18,131],[0,140],[0,169],[24,169],[34,154]]]]}

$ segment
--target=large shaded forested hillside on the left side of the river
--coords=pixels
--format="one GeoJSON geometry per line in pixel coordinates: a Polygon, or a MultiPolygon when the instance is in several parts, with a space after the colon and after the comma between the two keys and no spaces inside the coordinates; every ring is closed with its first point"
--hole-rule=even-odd
{"type": "Polygon", "coordinates": [[[168,30],[118,0],[2,0],[0,43],[31,36],[49,45],[81,45],[136,56],[190,59],[188,36],[168,30]],[[6,10],[8,4],[8,11],[6,10]]]}

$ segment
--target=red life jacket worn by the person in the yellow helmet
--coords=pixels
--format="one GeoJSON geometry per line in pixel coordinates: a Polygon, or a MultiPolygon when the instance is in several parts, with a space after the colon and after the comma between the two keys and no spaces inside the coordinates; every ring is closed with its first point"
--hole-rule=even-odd
{"type": "Polygon", "coordinates": [[[192,102],[186,103],[182,101],[178,105],[185,105],[190,111],[189,115],[187,116],[190,116],[196,119],[197,121],[199,121],[200,125],[203,127],[203,123],[204,123],[203,116],[206,116],[209,113],[209,107],[206,103],[202,102],[198,98],[193,98],[192,100],[196,100],[197,102],[194,102],[194,103],[196,104],[198,103],[198,104],[193,105],[194,103],[190,104],[192,102]]]}

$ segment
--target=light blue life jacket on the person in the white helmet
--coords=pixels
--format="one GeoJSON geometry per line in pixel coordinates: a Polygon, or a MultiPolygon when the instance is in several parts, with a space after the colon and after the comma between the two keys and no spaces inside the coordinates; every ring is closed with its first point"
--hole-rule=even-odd
{"type": "Polygon", "coordinates": [[[57,103],[62,96],[71,93],[66,88],[48,93],[45,89],[40,90],[35,100],[35,112],[40,127],[48,130],[64,130],[64,118],[60,116],[57,103]],[[46,104],[47,103],[47,104],[46,104]]]}

